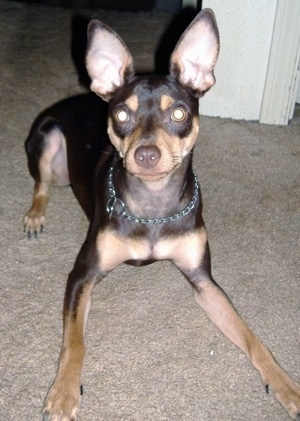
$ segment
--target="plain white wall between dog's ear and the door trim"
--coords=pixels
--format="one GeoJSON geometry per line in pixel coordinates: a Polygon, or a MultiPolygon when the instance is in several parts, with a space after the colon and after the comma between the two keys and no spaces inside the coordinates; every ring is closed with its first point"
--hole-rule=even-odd
{"type": "Polygon", "coordinates": [[[203,115],[259,120],[277,0],[203,0],[221,39],[216,85],[200,100],[203,115]]]}

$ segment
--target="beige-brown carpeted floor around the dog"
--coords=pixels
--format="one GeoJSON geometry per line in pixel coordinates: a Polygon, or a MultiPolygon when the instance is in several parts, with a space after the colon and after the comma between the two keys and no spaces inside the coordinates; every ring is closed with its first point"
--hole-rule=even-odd
{"type": "MultiPolygon", "coordinates": [[[[73,30],[82,16],[112,25],[148,70],[170,20],[152,12],[76,14],[0,0],[3,421],[41,417],[60,350],[65,281],[87,229],[64,188],[53,190],[39,239],[22,231],[33,186],[23,147],[29,127],[42,109],[84,90],[72,21],[73,30]]],[[[214,276],[298,381],[299,140],[299,116],[288,127],[203,117],[195,152],[214,276]]],[[[81,420],[287,420],[168,262],[115,270],[95,290],[86,336],[81,420]]]]}

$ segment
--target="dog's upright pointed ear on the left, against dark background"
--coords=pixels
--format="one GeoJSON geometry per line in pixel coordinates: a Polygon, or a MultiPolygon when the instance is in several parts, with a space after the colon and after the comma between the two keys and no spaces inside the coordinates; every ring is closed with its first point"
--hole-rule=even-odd
{"type": "Polygon", "coordinates": [[[91,90],[108,101],[134,74],[133,59],[122,39],[98,20],[88,25],[86,67],[91,90]]]}

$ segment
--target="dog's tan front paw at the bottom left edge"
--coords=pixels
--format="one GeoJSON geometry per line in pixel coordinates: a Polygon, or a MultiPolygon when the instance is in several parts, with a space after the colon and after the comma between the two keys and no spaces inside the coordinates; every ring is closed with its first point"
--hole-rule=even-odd
{"type": "Polygon", "coordinates": [[[79,387],[75,389],[54,384],[46,397],[43,421],[76,421],[79,404],[79,387]]]}

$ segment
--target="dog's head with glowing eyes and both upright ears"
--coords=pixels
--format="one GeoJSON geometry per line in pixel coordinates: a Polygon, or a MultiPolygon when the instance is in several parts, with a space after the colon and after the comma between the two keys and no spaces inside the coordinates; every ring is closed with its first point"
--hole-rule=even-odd
{"type": "Polygon", "coordinates": [[[198,99],[215,83],[219,36],[205,9],[186,29],[170,60],[168,76],[135,76],[124,42],[109,27],[88,27],[91,89],[109,101],[108,134],[125,168],[158,180],[180,166],[198,136],[198,99]]]}

